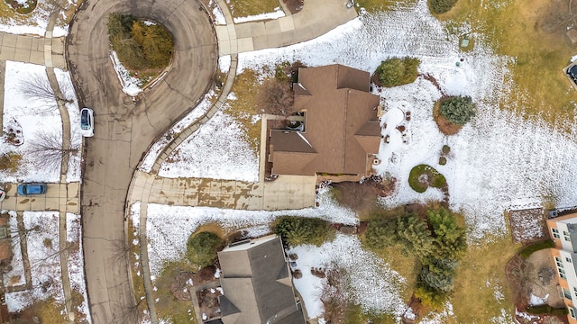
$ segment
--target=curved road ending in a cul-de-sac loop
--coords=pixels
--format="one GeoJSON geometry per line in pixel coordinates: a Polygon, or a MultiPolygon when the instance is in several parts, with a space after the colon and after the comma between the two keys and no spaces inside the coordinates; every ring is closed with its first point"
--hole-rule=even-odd
{"type": "Polygon", "coordinates": [[[194,107],[212,83],[215,32],[194,0],[87,1],[71,24],[69,68],[81,102],[96,115],[87,139],[82,186],[84,257],[92,320],[121,323],[133,305],[129,271],[113,262],[124,240],[124,202],[133,171],[152,140],[194,107]],[[108,14],[131,13],[163,23],[175,39],[169,74],[136,103],[123,94],[110,58],[108,14]]]}

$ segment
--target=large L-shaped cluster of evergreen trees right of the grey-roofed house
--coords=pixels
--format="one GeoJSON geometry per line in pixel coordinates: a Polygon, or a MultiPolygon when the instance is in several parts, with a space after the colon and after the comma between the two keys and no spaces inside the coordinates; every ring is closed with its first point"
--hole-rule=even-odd
{"type": "Polygon", "coordinates": [[[415,295],[437,310],[453,291],[454,275],[467,248],[465,229],[444,208],[430,209],[425,217],[407,212],[397,218],[371,220],[365,244],[373,250],[396,245],[421,264],[415,295]]]}

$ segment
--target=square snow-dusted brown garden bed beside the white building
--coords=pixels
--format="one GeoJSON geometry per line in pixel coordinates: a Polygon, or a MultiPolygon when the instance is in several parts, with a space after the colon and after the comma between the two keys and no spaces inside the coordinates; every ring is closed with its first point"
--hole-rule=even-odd
{"type": "Polygon", "coordinates": [[[542,208],[509,211],[508,221],[515,243],[528,244],[549,236],[542,208]]]}

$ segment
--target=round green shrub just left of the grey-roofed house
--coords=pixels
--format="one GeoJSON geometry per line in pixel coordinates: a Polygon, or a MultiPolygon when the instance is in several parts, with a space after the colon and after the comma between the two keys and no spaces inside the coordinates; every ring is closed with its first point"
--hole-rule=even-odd
{"type": "Polygon", "coordinates": [[[216,253],[223,245],[223,238],[213,232],[203,231],[193,234],[187,242],[188,261],[199,268],[211,266],[217,257],[216,253]]]}

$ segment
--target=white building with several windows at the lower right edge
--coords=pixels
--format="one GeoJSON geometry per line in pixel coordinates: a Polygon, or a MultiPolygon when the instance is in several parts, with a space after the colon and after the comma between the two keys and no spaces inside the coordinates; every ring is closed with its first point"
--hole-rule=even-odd
{"type": "Polygon", "coordinates": [[[570,324],[577,324],[577,213],[547,220],[555,247],[550,248],[551,257],[559,275],[560,294],[569,310],[570,324]]]}

